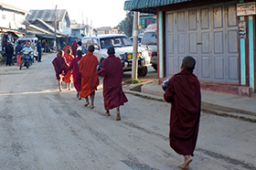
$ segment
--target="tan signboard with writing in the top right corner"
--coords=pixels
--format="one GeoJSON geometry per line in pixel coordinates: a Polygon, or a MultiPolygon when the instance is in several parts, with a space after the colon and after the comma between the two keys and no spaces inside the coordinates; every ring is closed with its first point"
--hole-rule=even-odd
{"type": "Polygon", "coordinates": [[[255,2],[237,4],[237,16],[256,15],[255,2]]]}

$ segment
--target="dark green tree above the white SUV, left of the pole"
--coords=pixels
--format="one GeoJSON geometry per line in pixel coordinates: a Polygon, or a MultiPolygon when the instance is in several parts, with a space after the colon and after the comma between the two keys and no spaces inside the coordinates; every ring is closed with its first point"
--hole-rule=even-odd
{"type": "Polygon", "coordinates": [[[131,14],[131,11],[126,14],[126,17],[115,28],[118,28],[119,33],[123,33],[127,37],[132,37],[132,35],[133,35],[133,16],[131,14]]]}

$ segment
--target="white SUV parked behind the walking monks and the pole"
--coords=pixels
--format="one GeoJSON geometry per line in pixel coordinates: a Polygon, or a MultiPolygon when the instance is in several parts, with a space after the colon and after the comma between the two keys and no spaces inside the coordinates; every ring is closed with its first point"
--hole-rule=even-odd
{"type": "MultiPolygon", "coordinates": [[[[99,35],[97,37],[83,37],[82,47],[88,48],[94,45],[94,55],[99,60],[99,65],[104,58],[108,57],[107,50],[110,47],[115,48],[115,56],[120,58],[123,65],[123,71],[131,71],[133,63],[133,43],[129,37],[121,34],[99,35]]],[[[145,76],[147,67],[151,66],[150,57],[146,50],[138,48],[138,75],[145,76]]]]}

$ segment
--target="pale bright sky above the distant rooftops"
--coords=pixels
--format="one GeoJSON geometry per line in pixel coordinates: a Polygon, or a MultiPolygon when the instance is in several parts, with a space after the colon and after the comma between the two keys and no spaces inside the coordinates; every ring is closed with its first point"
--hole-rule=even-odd
{"type": "Polygon", "coordinates": [[[11,0],[1,2],[17,8],[30,9],[67,9],[70,20],[91,27],[116,27],[126,15],[123,10],[125,0],[11,0]]]}

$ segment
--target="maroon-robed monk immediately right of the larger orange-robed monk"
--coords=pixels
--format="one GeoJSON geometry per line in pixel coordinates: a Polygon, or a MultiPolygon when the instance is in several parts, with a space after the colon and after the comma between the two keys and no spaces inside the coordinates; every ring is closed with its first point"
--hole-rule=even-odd
{"type": "Polygon", "coordinates": [[[104,77],[103,80],[103,97],[105,116],[110,116],[110,110],[116,108],[116,121],[120,121],[120,105],[127,102],[127,98],[123,93],[123,66],[120,58],[114,56],[114,48],[108,48],[108,58],[102,61],[101,69],[98,75],[104,77]]]}

